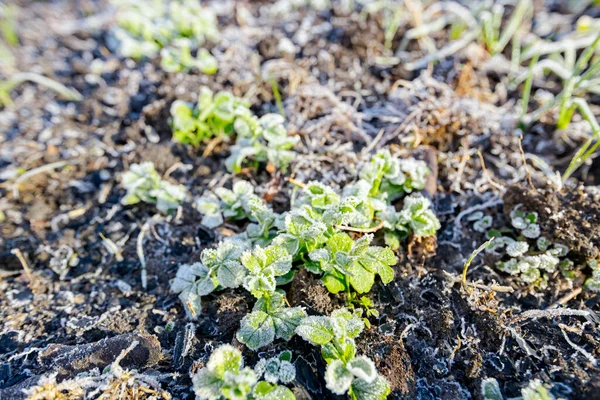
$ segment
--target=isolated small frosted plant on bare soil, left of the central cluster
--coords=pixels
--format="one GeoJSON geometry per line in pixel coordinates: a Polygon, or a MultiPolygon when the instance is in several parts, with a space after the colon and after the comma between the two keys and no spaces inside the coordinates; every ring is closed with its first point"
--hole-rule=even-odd
{"type": "Polygon", "coordinates": [[[143,201],[156,204],[156,208],[165,214],[176,210],[187,197],[185,187],[161,179],[151,162],[132,164],[123,174],[121,183],[127,189],[121,204],[143,201]]]}

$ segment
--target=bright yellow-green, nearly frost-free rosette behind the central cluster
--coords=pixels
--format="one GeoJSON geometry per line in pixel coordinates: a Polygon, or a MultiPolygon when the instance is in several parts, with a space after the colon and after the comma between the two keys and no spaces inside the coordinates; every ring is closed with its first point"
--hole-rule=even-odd
{"type": "Polygon", "coordinates": [[[214,94],[209,88],[202,87],[195,107],[181,100],[171,105],[173,139],[198,146],[215,136],[231,135],[237,116],[249,112],[249,105],[230,92],[214,94]]]}

